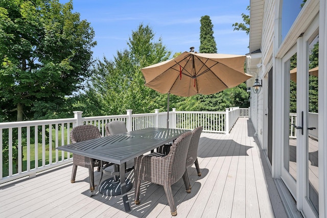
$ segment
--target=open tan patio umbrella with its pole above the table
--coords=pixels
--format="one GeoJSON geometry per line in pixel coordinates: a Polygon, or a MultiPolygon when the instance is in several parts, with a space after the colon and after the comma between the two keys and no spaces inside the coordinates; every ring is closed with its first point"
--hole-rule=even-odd
{"type": "MultiPolygon", "coordinates": [[[[179,96],[214,94],[252,76],[244,72],[245,56],[184,52],[178,57],[142,68],[145,85],[179,96]]],[[[168,128],[167,120],[167,128],[168,128]]]]}

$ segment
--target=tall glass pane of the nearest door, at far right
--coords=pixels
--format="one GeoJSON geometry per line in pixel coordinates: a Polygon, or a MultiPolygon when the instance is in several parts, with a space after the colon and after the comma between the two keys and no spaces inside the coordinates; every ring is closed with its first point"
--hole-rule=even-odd
{"type": "Polygon", "coordinates": [[[309,199],[319,211],[318,189],[318,36],[309,45],[308,182],[309,199]],[[313,128],[311,128],[313,127],[313,128]]]}

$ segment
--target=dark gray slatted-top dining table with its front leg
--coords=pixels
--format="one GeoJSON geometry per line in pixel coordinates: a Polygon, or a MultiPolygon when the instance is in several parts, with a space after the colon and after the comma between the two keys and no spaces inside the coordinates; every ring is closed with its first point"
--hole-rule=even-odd
{"type": "Polygon", "coordinates": [[[81,141],[57,149],[79,154],[92,159],[98,159],[114,164],[119,164],[121,193],[125,211],[130,211],[125,181],[125,163],[135,157],[143,155],[173,141],[178,136],[190,130],[167,129],[167,128],[145,128],[117,135],[81,141]]]}

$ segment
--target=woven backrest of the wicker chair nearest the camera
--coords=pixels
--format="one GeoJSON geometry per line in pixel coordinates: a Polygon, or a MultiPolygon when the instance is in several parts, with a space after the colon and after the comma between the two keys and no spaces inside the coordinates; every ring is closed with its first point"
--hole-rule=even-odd
{"type": "Polygon", "coordinates": [[[178,181],[185,172],[187,156],[186,151],[189,150],[191,139],[191,131],[183,133],[174,141],[170,152],[164,157],[169,161],[166,167],[168,167],[168,172],[171,173],[171,184],[178,181]]]}

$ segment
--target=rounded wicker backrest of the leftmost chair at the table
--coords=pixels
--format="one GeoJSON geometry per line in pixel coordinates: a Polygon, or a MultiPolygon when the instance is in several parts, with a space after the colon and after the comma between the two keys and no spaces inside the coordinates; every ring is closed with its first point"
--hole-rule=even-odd
{"type": "Polygon", "coordinates": [[[101,133],[98,127],[94,125],[82,125],[74,127],[71,131],[72,143],[86,141],[95,138],[101,138],[101,133]]]}

